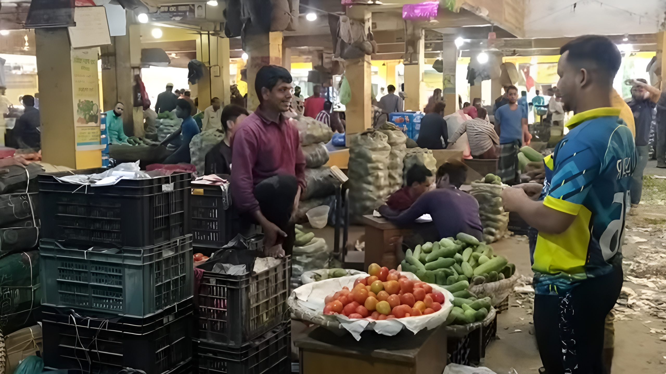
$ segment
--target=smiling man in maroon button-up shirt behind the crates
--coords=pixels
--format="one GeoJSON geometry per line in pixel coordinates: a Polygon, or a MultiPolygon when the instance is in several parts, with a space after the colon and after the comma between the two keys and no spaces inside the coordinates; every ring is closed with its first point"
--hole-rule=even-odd
{"type": "Polygon", "coordinates": [[[292,77],[267,65],[256,73],[254,89],[259,107],[232,140],[231,194],[244,219],[261,225],[266,254],[282,257],[292,252],[291,216],[306,187],[298,130],[283,114],[292,102],[292,77]]]}

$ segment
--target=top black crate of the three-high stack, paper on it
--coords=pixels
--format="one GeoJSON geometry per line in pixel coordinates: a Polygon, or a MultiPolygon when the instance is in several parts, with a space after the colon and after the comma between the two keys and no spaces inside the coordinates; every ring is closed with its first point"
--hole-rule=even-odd
{"type": "MultiPolygon", "coordinates": [[[[75,170],[96,174],[105,169],[75,170]]],[[[58,172],[39,175],[43,238],[128,247],[168,242],[190,234],[190,174],[123,179],[112,186],[60,182],[58,172]]]]}

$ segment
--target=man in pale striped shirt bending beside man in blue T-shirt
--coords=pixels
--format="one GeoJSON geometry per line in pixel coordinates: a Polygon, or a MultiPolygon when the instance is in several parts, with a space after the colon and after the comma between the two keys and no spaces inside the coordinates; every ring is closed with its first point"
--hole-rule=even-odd
{"type": "Polygon", "coordinates": [[[449,139],[452,144],[467,132],[467,138],[470,140],[470,150],[472,157],[490,160],[498,158],[497,146],[500,144],[500,136],[495,132],[495,128],[486,120],[488,111],[486,108],[478,108],[479,116],[473,120],[466,120],[449,139]]]}

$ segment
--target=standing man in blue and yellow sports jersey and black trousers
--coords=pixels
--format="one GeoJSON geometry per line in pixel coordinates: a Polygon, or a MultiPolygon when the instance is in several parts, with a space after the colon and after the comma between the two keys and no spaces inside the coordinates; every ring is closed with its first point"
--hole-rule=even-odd
{"type": "Polygon", "coordinates": [[[622,287],[623,230],[636,164],[631,131],[611,106],[621,55],[600,36],[560,51],[557,88],[575,115],[544,159],[543,186],[506,188],[505,209],[539,230],[534,328],[548,374],[604,373],[604,320],[622,287]],[[542,189],[541,189],[542,187],[542,189]]]}

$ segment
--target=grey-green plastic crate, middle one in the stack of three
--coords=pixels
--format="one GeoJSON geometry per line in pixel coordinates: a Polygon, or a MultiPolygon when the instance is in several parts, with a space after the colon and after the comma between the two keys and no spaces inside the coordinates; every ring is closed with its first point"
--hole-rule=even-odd
{"type": "Polygon", "coordinates": [[[43,303],[147,317],[192,297],[192,236],[144,248],[101,248],[42,239],[43,303]]]}

